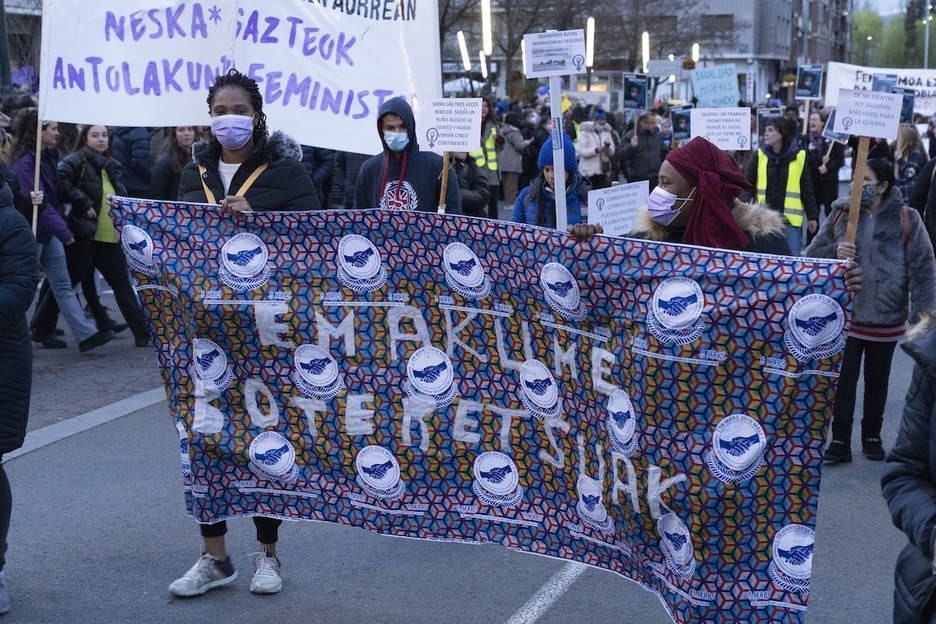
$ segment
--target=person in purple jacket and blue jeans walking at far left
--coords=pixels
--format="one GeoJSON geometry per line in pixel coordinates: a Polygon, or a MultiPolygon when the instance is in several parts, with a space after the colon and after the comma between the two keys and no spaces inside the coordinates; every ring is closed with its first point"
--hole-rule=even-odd
{"type": "MultiPolygon", "coordinates": [[[[20,188],[25,192],[35,188],[36,152],[34,151],[38,112],[35,108],[22,109],[13,120],[15,139],[10,168],[19,180],[20,188]]],[[[81,304],[75,296],[68,263],[65,259],[65,246],[75,243],[75,235],[65,221],[62,202],[62,183],[56,168],[58,124],[54,121],[42,123],[42,153],[39,164],[39,193],[33,194],[33,201],[39,206],[39,219],[36,239],[39,242],[39,264],[45,273],[52,294],[72,335],[78,342],[78,350],[84,353],[109,342],[114,337],[110,330],[98,331],[94,323],[85,318],[81,304]]],[[[51,349],[62,349],[67,345],[55,334],[34,335],[33,340],[51,349]]]]}

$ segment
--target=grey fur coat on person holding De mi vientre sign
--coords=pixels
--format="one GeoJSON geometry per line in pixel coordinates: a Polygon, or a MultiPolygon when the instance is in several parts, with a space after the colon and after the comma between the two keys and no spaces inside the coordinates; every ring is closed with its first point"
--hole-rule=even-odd
{"type": "MultiPolygon", "coordinates": [[[[832,202],[832,216],[822,224],[804,256],[836,257],[848,227],[849,202],[849,197],[832,202]]],[[[914,317],[936,312],[933,245],[916,210],[907,210],[910,236],[904,241],[904,210],[900,192],[894,190],[873,213],[861,211],[855,245],[864,280],[852,303],[854,323],[893,326],[906,322],[911,312],[914,317]]]]}

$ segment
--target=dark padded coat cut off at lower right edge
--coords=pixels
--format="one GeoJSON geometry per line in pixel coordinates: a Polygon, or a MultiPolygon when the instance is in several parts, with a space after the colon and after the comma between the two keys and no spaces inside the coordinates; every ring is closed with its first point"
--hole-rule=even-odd
{"type": "Polygon", "coordinates": [[[903,349],[916,367],[897,443],[881,478],[894,525],[910,540],[894,570],[894,624],[921,621],[936,589],[936,329],[905,343],[903,349]]]}

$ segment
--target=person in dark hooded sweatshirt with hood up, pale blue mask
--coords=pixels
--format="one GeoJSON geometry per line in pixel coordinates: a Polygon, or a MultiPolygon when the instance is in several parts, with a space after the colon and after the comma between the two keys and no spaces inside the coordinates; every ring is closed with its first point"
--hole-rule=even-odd
{"type": "MultiPolygon", "coordinates": [[[[354,207],[436,212],[442,194],[442,157],[419,151],[413,109],[402,96],[380,107],[377,133],[383,152],[361,166],[354,207]]],[[[453,172],[448,176],[445,212],[462,213],[458,179],[453,172]]]]}

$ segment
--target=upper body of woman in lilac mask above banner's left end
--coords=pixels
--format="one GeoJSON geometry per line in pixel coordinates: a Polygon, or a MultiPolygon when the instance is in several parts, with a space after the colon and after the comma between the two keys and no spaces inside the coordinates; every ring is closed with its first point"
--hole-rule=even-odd
{"type": "Polygon", "coordinates": [[[321,208],[299,144],[282,132],[269,134],[254,80],[233,69],[219,76],[208,90],[208,112],[213,138],[192,147],[179,199],[233,213],[321,208]]]}

